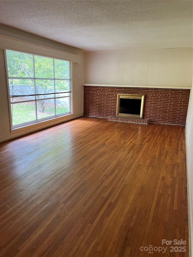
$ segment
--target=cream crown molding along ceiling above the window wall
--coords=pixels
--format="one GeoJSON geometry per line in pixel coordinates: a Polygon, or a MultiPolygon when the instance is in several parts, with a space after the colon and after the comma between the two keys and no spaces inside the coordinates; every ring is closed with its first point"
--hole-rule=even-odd
{"type": "Polygon", "coordinates": [[[30,33],[30,32],[27,32],[27,31],[23,31],[23,30],[14,28],[14,27],[9,27],[9,26],[7,26],[5,24],[1,24],[0,23],[0,29],[6,30],[6,31],[9,31],[9,32],[12,32],[12,33],[16,33],[16,34],[19,34],[19,35],[22,35],[22,36],[27,36],[29,38],[37,39],[37,40],[40,40],[40,41],[43,41],[43,42],[46,42],[46,43],[50,43],[50,44],[53,44],[53,45],[58,45],[60,47],[65,47],[65,48],[70,49],[70,50],[75,50],[75,51],[79,51],[79,52],[85,52],[83,49],[80,49],[80,48],[77,48],[77,47],[73,47],[73,46],[70,46],[70,45],[66,45],[66,44],[54,41],[52,39],[48,39],[46,37],[39,36],[39,35],[30,33]]]}

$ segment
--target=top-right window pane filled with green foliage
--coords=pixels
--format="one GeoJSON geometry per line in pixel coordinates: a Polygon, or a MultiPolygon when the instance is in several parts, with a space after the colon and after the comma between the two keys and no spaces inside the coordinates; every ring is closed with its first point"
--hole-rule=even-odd
{"type": "Polygon", "coordinates": [[[69,61],[54,59],[55,78],[69,79],[69,61]]]}

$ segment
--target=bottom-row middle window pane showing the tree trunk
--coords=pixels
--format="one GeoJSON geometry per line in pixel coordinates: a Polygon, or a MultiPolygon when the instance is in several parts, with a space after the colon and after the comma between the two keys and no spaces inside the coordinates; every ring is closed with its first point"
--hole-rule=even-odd
{"type": "Polygon", "coordinates": [[[37,101],[37,118],[42,119],[54,116],[54,99],[43,99],[37,101]]]}

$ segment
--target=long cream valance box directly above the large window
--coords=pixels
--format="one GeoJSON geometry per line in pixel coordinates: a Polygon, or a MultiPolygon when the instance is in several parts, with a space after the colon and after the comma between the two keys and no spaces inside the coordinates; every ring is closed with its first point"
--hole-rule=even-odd
{"type": "Polygon", "coordinates": [[[58,58],[65,61],[71,61],[75,63],[81,63],[81,56],[74,55],[71,53],[63,52],[60,50],[55,50],[48,47],[43,47],[40,45],[35,45],[32,43],[24,42],[21,40],[12,39],[5,36],[0,36],[0,48],[9,49],[21,52],[27,52],[30,54],[39,54],[46,57],[58,58]]]}

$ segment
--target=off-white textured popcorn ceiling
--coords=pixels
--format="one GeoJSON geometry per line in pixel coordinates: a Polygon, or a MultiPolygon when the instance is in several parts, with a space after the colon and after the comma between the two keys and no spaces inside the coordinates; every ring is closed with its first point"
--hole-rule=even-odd
{"type": "Polygon", "coordinates": [[[192,1],[0,1],[0,22],[86,51],[192,47],[192,1]]]}

